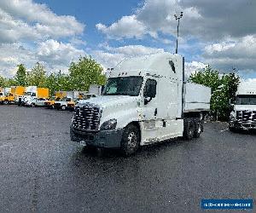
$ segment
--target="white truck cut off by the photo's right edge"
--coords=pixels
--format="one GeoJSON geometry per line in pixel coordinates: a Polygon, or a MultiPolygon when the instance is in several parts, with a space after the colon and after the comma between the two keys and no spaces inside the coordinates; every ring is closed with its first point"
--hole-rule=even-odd
{"type": "Polygon", "coordinates": [[[256,83],[239,84],[234,110],[230,112],[229,128],[231,131],[256,130],[256,83]]]}

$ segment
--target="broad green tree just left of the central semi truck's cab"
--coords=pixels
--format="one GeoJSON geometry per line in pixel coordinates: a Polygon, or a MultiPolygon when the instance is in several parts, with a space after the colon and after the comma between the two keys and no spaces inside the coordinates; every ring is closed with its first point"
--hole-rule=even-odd
{"type": "Polygon", "coordinates": [[[72,62],[68,71],[70,76],[70,89],[88,90],[90,84],[104,84],[105,75],[102,66],[91,57],[80,57],[78,62],[72,62]]]}

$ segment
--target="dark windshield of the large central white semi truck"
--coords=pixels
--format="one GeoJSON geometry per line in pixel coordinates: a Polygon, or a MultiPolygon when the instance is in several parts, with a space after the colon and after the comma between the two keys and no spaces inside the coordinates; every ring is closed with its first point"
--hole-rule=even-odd
{"type": "Polygon", "coordinates": [[[130,95],[137,96],[140,93],[143,77],[130,76],[108,78],[108,83],[102,95],[130,95]]]}

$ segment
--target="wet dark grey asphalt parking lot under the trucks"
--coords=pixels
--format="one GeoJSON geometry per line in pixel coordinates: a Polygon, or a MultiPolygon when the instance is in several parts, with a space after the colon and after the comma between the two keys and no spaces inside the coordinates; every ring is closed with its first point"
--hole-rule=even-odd
{"type": "Polygon", "coordinates": [[[256,135],[224,123],[124,158],[70,141],[72,112],[0,106],[0,114],[1,212],[200,212],[201,199],[256,198],[256,135]]]}

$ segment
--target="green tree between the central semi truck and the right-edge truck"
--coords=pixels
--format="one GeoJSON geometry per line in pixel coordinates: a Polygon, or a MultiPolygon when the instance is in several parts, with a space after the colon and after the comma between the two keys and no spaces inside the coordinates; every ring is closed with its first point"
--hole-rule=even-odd
{"type": "Polygon", "coordinates": [[[210,66],[207,66],[203,71],[192,74],[189,81],[212,89],[212,115],[219,120],[226,121],[230,116],[230,101],[234,102],[236,99],[239,79],[235,73],[220,75],[217,70],[212,70],[210,66]]]}

